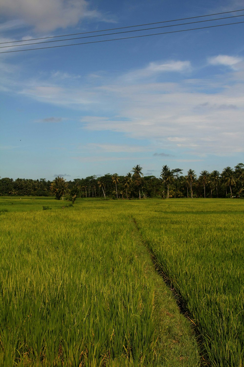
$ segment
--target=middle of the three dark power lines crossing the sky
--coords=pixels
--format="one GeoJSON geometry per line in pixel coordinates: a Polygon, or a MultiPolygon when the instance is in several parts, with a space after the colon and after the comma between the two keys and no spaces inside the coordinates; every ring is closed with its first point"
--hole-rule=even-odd
{"type": "Polygon", "coordinates": [[[221,20],[221,19],[229,19],[229,18],[237,18],[237,17],[244,17],[244,14],[241,14],[241,15],[232,15],[232,16],[230,16],[230,17],[223,17],[223,18],[205,19],[204,21],[196,21],[196,22],[188,22],[188,23],[180,23],[180,24],[164,25],[164,26],[153,27],[153,28],[143,28],[143,29],[135,29],[135,30],[125,30],[125,31],[123,31],[123,32],[105,33],[105,34],[97,34],[97,35],[93,35],[93,36],[67,38],[67,39],[63,39],[63,40],[53,40],[53,41],[33,42],[33,43],[25,43],[25,44],[22,44],[22,45],[0,46],[0,48],[6,48],[6,47],[20,47],[20,46],[29,46],[29,45],[35,45],[35,44],[41,44],[41,43],[62,42],[62,41],[71,41],[71,40],[78,40],[78,39],[91,38],[91,37],[111,36],[112,34],[131,33],[131,32],[141,32],[142,30],[151,30],[151,29],[158,29],[158,28],[176,27],[176,26],[180,26],[180,25],[188,25],[188,24],[194,24],[194,23],[213,22],[213,21],[217,21],[217,20],[221,20]]]}

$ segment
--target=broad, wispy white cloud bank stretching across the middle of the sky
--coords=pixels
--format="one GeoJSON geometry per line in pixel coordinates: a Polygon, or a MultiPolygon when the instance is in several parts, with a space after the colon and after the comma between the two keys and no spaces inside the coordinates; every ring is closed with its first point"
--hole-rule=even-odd
{"type": "MultiPolygon", "coordinates": [[[[150,148],[154,145],[147,151],[176,149],[194,154],[196,158],[203,154],[230,155],[244,151],[244,75],[240,72],[232,70],[228,77],[223,74],[177,83],[134,80],[132,84],[124,75],[109,76],[102,80],[105,81],[107,84],[101,81],[84,84],[79,79],[49,76],[46,81],[36,78],[19,82],[16,88],[13,75],[12,92],[80,110],[83,129],[120,132],[139,141],[147,139],[151,142],[150,148]]],[[[97,150],[99,159],[100,152],[136,153],[141,149],[140,145],[133,145],[129,150],[126,145],[116,144],[88,147],[97,150]]]]}

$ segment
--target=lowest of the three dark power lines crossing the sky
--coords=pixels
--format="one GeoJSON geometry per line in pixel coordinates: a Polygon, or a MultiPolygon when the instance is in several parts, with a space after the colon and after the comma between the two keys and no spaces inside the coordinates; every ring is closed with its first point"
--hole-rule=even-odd
{"type": "Polygon", "coordinates": [[[73,43],[68,45],[59,45],[59,46],[48,46],[48,47],[38,47],[38,48],[27,48],[25,50],[16,50],[16,51],[2,51],[0,54],[6,54],[9,52],[22,52],[22,51],[33,51],[33,50],[44,50],[46,48],[57,48],[57,47],[67,47],[67,46],[77,46],[77,45],[84,45],[90,43],[101,43],[101,42],[109,42],[109,41],[119,41],[119,40],[128,40],[132,38],[140,38],[140,37],[149,37],[149,36],[157,36],[158,34],[169,34],[169,33],[179,33],[179,32],[187,32],[188,30],[197,30],[197,29],[206,29],[206,28],[215,28],[215,27],[222,27],[225,25],[232,25],[232,24],[240,24],[244,22],[235,22],[235,23],[226,23],[226,24],[219,24],[219,25],[211,25],[207,27],[200,27],[200,28],[191,28],[191,29],[181,29],[181,30],[174,30],[171,32],[162,32],[162,33],[152,33],[152,34],[143,34],[141,36],[132,36],[132,37],[122,37],[122,38],[114,38],[110,40],[101,40],[101,41],[91,41],[91,42],[82,42],[82,43],[73,43]]]}

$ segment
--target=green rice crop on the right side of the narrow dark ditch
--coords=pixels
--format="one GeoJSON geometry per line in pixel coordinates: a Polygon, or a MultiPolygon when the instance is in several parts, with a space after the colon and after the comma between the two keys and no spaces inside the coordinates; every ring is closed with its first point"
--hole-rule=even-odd
{"type": "Polygon", "coordinates": [[[244,201],[163,201],[148,210],[135,215],[142,238],[180,295],[211,366],[243,366],[244,201]]]}

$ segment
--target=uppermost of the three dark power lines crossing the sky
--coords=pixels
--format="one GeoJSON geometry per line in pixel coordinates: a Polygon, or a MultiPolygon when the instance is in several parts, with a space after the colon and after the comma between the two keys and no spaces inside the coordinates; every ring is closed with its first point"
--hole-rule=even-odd
{"type": "Polygon", "coordinates": [[[146,25],[153,25],[153,24],[159,24],[159,23],[177,22],[177,21],[184,21],[184,20],[188,20],[188,19],[203,18],[203,17],[211,17],[212,15],[229,14],[229,13],[234,13],[234,12],[243,11],[243,10],[244,10],[244,9],[240,9],[240,10],[232,10],[232,11],[225,11],[225,12],[222,12],[222,13],[214,13],[214,14],[198,15],[197,17],[188,17],[188,18],[172,19],[172,20],[169,20],[169,21],[154,22],[154,23],[145,23],[145,24],[131,25],[131,26],[127,26],[127,27],[110,28],[110,29],[101,29],[101,30],[94,30],[94,31],[91,31],[91,32],[82,32],[82,33],[63,34],[63,35],[61,35],[61,36],[50,36],[50,37],[41,37],[41,38],[31,38],[31,39],[28,39],[28,40],[19,40],[19,41],[0,42],[0,44],[4,44],[4,43],[15,43],[15,42],[26,42],[26,41],[36,41],[36,40],[44,40],[44,39],[56,38],[56,37],[76,36],[76,35],[78,35],[78,34],[88,34],[88,33],[97,33],[97,32],[107,32],[107,31],[110,31],[110,30],[125,29],[125,28],[133,28],[133,27],[142,27],[142,26],[146,26],[146,25]]]}

